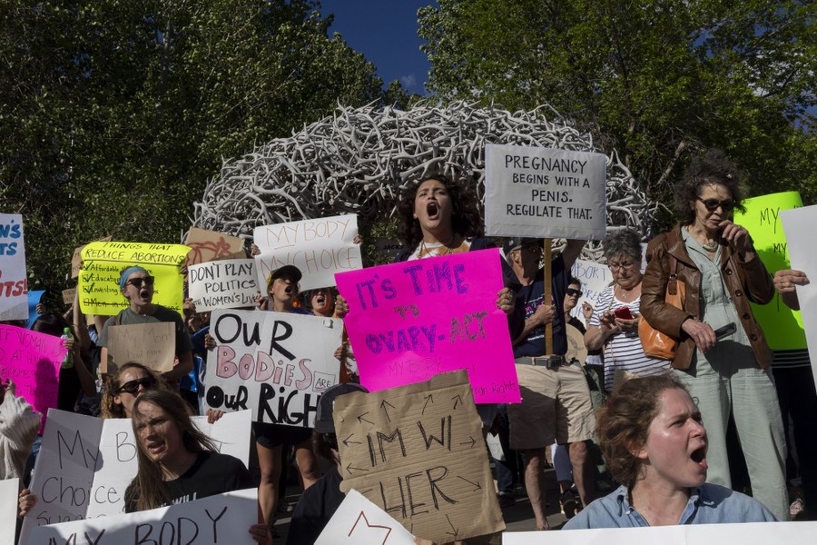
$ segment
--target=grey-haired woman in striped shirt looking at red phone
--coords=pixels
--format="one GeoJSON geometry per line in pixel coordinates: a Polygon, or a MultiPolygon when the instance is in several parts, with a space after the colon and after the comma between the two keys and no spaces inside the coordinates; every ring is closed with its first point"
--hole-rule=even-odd
{"type": "Polygon", "coordinates": [[[669,362],[648,358],[638,337],[641,302],[641,237],[632,229],[609,235],[603,243],[613,283],[598,297],[585,333],[587,350],[605,351],[605,390],[616,373],[649,376],[669,369],[669,362]]]}

